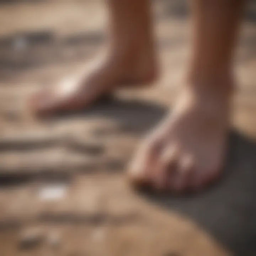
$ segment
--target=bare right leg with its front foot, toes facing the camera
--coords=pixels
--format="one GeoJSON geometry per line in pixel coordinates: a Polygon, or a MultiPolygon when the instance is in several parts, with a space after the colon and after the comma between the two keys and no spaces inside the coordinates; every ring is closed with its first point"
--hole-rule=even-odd
{"type": "Polygon", "coordinates": [[[129,172],[133,182],[159,190],[198,190],[221,174],[225,161],[242,0],[191,3],[194,37],[185,85],[129,172]]]}

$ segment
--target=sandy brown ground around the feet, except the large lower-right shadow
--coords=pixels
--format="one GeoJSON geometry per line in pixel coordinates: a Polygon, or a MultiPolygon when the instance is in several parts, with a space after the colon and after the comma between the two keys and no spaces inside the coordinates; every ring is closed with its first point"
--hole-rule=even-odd
{"type": "Polygon", "coordinates": [[[36,120],[26,97],[106,42],[102,1],[0,1],[0,255],[256,255],[256,5],[241,26],[234,128],[222,180],[177,198],[134,191],[126,165],[186,69],[183,1],[154,1],[162,76],[90,110],[36,120]]]}

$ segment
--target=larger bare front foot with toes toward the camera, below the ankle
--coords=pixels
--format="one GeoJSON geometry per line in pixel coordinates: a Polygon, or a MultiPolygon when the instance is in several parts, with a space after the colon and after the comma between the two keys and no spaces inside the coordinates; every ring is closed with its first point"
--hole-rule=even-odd
{"type": "Polygon", "coordinates": [[[129,169],[135,185],[156,190],[199,190],[222,172],[230,96],[187,87],[172,115],[145,140],[129,169]]]}

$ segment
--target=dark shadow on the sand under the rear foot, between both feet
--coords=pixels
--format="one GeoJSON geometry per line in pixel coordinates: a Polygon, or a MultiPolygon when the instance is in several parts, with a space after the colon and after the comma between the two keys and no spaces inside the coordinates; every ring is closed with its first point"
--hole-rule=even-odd
{"type": "MultiPolygon", "coordinates": [[[[118,130],[134,135],[144,135],[152,129],[167,113],[167,107],[149,101],[119,99],[114,95],[106,95],[98,100],[97,104],[89,109],[57,113],[49,121],[66,118],[102,117],[116,121],[118,130]]],[[[95,130],[97,134],[97,130],[95,130]]]]}

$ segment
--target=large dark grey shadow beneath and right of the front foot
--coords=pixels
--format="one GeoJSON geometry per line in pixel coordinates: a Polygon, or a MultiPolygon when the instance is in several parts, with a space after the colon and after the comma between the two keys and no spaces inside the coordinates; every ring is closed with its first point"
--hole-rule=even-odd
{"type": "Polygon", "coordinates": [[[234,255],[256,255],[256,144],[238,132],[231,133],[222,180],[207,191],[178,198],[142,194],[192,219],[234,255]]]}

